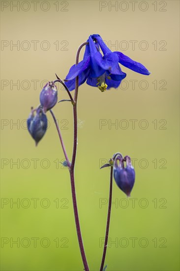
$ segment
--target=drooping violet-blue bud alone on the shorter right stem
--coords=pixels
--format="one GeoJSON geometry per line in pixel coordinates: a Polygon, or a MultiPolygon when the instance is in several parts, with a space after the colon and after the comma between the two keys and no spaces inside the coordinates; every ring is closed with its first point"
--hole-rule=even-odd
{"type": "Polygon", "coordinates": [[[124,158],[120,156],[116,157],[114,164],[114,178],[120,190],[122,190],[127,197],[130,197],[135,181],[135,171],[131,165],[129,156],[125,156],[124,158]],[[126,162],[126,167],[124,167],[124,162],[126,162]]]}

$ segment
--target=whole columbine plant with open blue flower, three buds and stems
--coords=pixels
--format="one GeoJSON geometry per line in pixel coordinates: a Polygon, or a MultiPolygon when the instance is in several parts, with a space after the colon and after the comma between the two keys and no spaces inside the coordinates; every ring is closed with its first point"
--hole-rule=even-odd
{"type": "MultiPolygon", "coordinates": [[[[84,264],[85,271],[89,271],[88,262],[86,259],[86,254],[83,245],[83,239],[81,235],[78,208],[76,201],[76,191],[75,191],[75,181],[74,181],[74,167],[76,161],[76,150],[77,150],[77,100],[78,100],[78,88],[83,83],[87,83],[92,87],[97,87],[101,92],[104,92],[111,88],[118,88],[121,81],[126,77],[126,73],[120,68],[120,65],[126,68],[130,68],[133,71],[139,72],[144,75],[149,75],[145,66],[141,63],[133,61],[129,57],[125,56],[121,52],[112,52],[104,43],[101,36],[98,34],[93,34],[89,36],[87,42],[84,42],[78,49],[76,55],[76,63],[73,65],[66,78],[62,81],[57,75],[57,79],[48,82],[40,93],[40,105],[37,108],[31,108],[30,116],[27,120],[28,131],[30,135],[35,140],[35,144],[42,139],[47,130],[47,111],[50,111],[57,131],[60,138],[60,143],[65,156],[65,162],[63,165],[69,169],[70,181],[71,181],[71,192],[72,192],[72,202],[74,207],[74,217],[76,223],[77,236],[79,241],[79,247],[81,251],[81,256],[84,264]],[[79,63],[80,51],[86,46],[85,54],[83,60],[79,63]],[[100,49],[102,53],[100,52],[100,49]],[[52,108],[56,105],[58,101],[58,90],[56,83],[60,82],[67,94],[69,100],[61,100],[60,102],[69,101],[73,106],[73,116],[74,116],[74,138],[73,138],[73,152],[72,158],[69,160],[65,146],[62,140],[60,128],[58,126],[57,119],[52,111],[52,108]],[[64,83],[65,82],[65,83],[64,83]],[[75,90],[74,97],[71,96],[70,91],[75,90]]],[[[118,187],[129,197],[130,192],[134,186],[135,181],[135,171],[131,165],[131,159],[129,156],[123,156],[120,153],[116,153],[110,160],[109,163],[104,165],[102,168],[110,167],[110,192],[109,192],[109,207],[108,207],[108,217],[106,225],[105,243],[102,255],[102,261],[100,266],[100,271],[106,269],[104,267],[104,261],[106,256],[109,225],[110,225],[110,215],[111,215],[111,203],[112,203],[112,180],[113,172],[114,179],[118,187]],[[124,164],[126,165],[124,166],[124,164]]]]}

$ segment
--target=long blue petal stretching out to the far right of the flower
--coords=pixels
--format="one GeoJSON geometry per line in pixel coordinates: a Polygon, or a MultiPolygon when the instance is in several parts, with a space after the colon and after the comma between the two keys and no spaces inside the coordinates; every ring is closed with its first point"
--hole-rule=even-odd
{"type": "Polygon", "coordinates": [[[123,65],[126,68],[130,68],[136,72],[139,72],[141,74],[149,75],[150,71],[143,66],[141,63],[136,62],[129,57],[125,56],[124,54],[120,52],[115,52],[119,56],[119,62],[121,65],[123,65]]]}

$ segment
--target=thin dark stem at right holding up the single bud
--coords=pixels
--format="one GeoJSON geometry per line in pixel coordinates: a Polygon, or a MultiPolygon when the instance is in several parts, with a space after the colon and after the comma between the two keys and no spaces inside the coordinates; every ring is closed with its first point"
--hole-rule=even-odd
{"type": "Polygon", "coordinates": [[[108,235],[109,235],[109,225],[110,225],[110,217],[111,217],[112,191],[113,191],[113,165],[111,165],[111,173],[110,173],[108,216],[107,216],[105,242],[104,242],[104,249],[103,249],[103,254],[102,254],[100,271],[103,271],[104,261],[106,258],[106,250],[107,250],[108,235]]]}

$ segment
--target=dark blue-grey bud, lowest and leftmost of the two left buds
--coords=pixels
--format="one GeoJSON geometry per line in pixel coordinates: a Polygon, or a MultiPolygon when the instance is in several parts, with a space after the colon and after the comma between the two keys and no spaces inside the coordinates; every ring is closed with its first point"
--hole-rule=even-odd
{"type": "MultiPolygon", "coordinates": [[[[32,108],[31,108],[32,109],[32,108]]],[[[48,120],[43,113],[42,107],[32,109],[29,118],[27,119],[28,131],[35,140],[35,145],[41,140],[47,130],[48,120]],[[35,114],[34,114],[35,112],[35,114]]]]}

